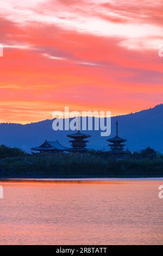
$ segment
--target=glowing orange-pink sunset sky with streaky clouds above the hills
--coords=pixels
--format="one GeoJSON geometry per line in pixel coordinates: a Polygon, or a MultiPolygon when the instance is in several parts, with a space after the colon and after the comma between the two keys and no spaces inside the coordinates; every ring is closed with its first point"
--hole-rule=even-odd
{"type": "Polygon", "coordinates": [[[0,122],[136,112],[162,102],[163,2],[5,0],[0,122]]]}

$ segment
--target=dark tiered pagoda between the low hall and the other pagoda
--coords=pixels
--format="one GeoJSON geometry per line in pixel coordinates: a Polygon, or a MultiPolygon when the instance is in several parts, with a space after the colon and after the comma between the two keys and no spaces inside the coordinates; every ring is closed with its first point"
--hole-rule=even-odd
{"type": "Polygon", "coordinates": [[[89,141],[85,141],[85,139],[91,137],[91,135],[86,135],[78,130],[78,132],[67,135],[67,137],[73,139],[69,141],[72,143],[72,148],[68,149],[68,151],[84,153],[89,150],[86,148],[86,144],[89,141]]]}

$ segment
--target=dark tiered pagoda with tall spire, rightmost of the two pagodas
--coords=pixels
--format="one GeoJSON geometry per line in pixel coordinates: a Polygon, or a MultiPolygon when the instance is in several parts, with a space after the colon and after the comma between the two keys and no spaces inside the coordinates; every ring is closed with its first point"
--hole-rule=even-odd
{"type": "Polygon", "coordinates": [[[128,154],[127,151],[124,151],[124,146],[126,146],[126,144],[122,144],[122,143],[126,142],[127,139],[123,139],[118,136],[118,122],[117,121],[116,121],[116,136],[111,139],[107,139],[107,141],[112,143],[112,144],[109,144],[110,149],[111,149],[109,151],[109,154],[111,154],[112,156],[121,157],[121,156],[128,154]]]}

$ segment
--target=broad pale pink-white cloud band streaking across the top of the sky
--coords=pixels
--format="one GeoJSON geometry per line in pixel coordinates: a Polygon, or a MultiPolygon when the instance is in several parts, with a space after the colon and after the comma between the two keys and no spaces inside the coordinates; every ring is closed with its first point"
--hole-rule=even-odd
{"type": "MultiPolygon", "coordinates": [[[[141,8],[139,4],[140,1],[129,3],[126,0],[110,1],[109,4],[104,1],[91,1],[90,3],[80,1],[78,5],[70,6],[62,4],[62,1],[54,0],[23,1],[22,4],[6,0],[0,13],[22,26],[29,22],[37,22],[64,29],[76,29],[79,33],[116,36],[128,39],[130,45],[133,47],[136,45],[139,48],[142,39],[150,41],[151,38],[157,39],[158,35],[163,35],[162,24],[150,21],[150,18],[154,16],[152,8],[159,14],[159,8],[162,7],[161,1],[153,3],[144,1],[141,8]],[[41,11],[39,7],[42,7],[41,11]],[[134,11],[137,11],[136,16],[134,11]],[[133,39],[135,39],[134,44],[133,39]]],[[[122,45],[126,46],[124,43],[122,45]]],[[[146,46],[148,48],[148,45],[144,44],[144,47],[146,46]]]]}

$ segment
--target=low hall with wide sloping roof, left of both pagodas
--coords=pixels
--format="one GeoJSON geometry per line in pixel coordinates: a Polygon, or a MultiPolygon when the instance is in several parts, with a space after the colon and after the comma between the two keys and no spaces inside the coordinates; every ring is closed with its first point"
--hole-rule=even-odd
{"type": "Polygon", "coordinates": [[[58,141],[45,141],[39,147],[32,148],[32,150],[66,150],[67,148],[61,145],[58,141]]]}

